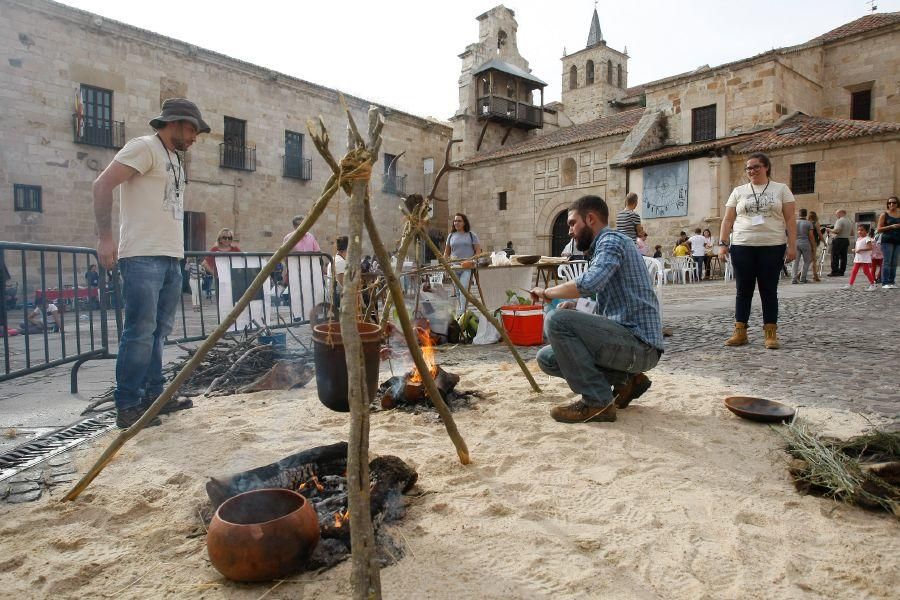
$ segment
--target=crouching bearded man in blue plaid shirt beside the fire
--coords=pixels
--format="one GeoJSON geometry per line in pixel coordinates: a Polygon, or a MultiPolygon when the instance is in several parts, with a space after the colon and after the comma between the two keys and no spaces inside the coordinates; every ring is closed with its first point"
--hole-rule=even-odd
{"type": "Polygon", "coordinates": [[[569,209],[569,236],[578,250],[590,250],[590,264],[574,280],[531,290],[535,301],[597,299],[595,314],[571,310],[574,303],[564,302],[544,324],[550,345],[538,352],[538,365],[581,394],[550,412],[562,423],[615,421],[617,408],[650,387],[644,371],[655,367],[663,352],[659,302],[644,259],[631,238],[608,222],[602,198],[576,200],[569,209]]]}

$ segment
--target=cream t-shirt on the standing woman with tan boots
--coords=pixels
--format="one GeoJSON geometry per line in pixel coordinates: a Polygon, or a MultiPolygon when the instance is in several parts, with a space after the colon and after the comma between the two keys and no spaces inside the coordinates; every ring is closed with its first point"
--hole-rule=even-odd
{"type": "MultiPolygon", "coordinates": [[[[725,206],[737,211],[731,243],[740,246],[779,246],[787,243],[783,205],[794,201],[788,186],[777,181],[746,183],[734,188],[725,206]]],[[[794,224],[791,223],[791,227],[794,224]]]]}

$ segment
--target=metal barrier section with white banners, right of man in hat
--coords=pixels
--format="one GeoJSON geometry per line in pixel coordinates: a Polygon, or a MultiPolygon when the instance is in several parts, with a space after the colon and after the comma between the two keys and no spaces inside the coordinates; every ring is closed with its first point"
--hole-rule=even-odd
{"type": "MultiPolygon", "coordinates": [[[[273,252],[185,252],[184,293],[175,328],[166,343],[206,338],[243,295],[273,252]]],[[[326,299],[331,256],[292,252],[269,277],[231,331],[305,325],[315,305],[326,299]]]]}

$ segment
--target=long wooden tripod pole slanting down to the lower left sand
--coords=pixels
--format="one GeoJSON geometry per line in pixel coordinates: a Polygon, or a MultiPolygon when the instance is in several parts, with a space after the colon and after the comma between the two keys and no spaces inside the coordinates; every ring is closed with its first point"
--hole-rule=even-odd
{"type": "MultiPolygon", "coordinates": [[[[313,139],[316,139],[316,134],[310,129],[310,134],[313,139]]],[[[322,135],[326,140],[327,144],[327,131],[325,131],[324,126],[322,129],[322,135]]],[[[178,388],[181,387],[181,384],[184,383],[188,377],[194,372],[194,370],[203,362],[203,359],[206,357],[207,353],[212,349],[213,346],[216,345],[216,342],[221,339],[223,335],[228,331],[228,329],[234,324],[237,320],[238,315],[250,304],[250,301],[256,296],[256,292],[262,287],[263,282],[269,278],[269,275],[275,270],[275,266],[284,260],[284,257],[287,256],[294,248],[294,246],[299,242],[306,232],[309,231],[313,224],[316,222],[316,219],[321,216],[321,214],[325,211],[325,208],[328,206],[328,201],[334,196],[335,192],[338,191],[340,187],[340,179],[338,175],[333,175],[328,183],[325,184],[325,191],[322,192],[322,195],[313,205],[312,209],[310,209],[309,214],[307,214],[306,218],[302,223],[297,227],[294,233],[286,242],[281,245],[281,248],[278,249],[277,252],[269,259],[269,262],[265,264],[253,282],[250,284],[250,287],[247,288],[247,291],[244,292],[244,295],[237,301],[234,305],[234,308],[231,309],[231,312],[223,319],[223,321],[219,324],[219,326],[213,331],[206,340],[203,341],[202,344],[197,348],[197,352],[191,359],[184,365],[178,375],[175,376],[175,379],[166,386],[166,389],[163,390],[163,393],[160,394],[159,398],[150,405],[150,407],[144,412],[140,419],[138,419],[134,425],[129,427],[128,429],[122,431],[116,439],[112,441],[112,443],[104,450],[103,454],[100,455],[100,458],[97,459],[97,462],[91,467],[91,469],[82,477],[78,483],[73,487],[64,497],[63,500],[75,500],[81,492],[83,492],[91,482],[100,474],[101,471],[106,467],[107,464],[112,461],[115,457],[116,453],[118,453],[119,449],[125,445],[125,443],[136,436],[144,427],[147,426],[153,418],[159,413],[165,404],[172,399],[175,395],[175,392],[178,391],[178,388]]]]}

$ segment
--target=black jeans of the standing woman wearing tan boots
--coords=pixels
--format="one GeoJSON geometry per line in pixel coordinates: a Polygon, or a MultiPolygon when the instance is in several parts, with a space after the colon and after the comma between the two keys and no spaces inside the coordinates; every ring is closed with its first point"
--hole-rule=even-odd
{"type": "Polygon", "coordinates": [[[746,323],[750,318],[753,290],[759,284],[763,323],[778,322],[778,277],[784,266],[786,244],[779,246],[731,246],[731,264],[737,296],[734,320],[746,323]]]}

